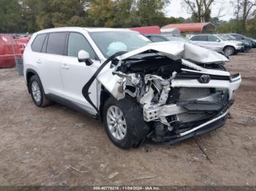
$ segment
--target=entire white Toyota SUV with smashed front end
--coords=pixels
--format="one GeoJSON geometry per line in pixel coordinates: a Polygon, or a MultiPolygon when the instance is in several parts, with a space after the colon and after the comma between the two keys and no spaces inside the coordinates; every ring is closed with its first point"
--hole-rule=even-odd
{"type": "Polygon", "coordinates": [[[173,144],[219,128],[241,83],[217,52],[151,43],[128,29],[39,31],[23,58],[34,104],[56,101],[97,117],[123,149],[146,139],[173,144]]]}

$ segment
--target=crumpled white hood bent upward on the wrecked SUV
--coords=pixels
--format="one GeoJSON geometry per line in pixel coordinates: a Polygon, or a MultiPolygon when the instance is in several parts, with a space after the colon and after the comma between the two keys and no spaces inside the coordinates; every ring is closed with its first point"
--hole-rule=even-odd
{"type": "Polygon", "coordinates": [[[133,55],[138,55],[150,50],[157,51],[175,61],[181,58],[197,63],[222,63],[229,61],[224,55],[218,52],[184,42],[155,42],[127,52],[117,58],[118,60],[125,60],[133,55]]]}

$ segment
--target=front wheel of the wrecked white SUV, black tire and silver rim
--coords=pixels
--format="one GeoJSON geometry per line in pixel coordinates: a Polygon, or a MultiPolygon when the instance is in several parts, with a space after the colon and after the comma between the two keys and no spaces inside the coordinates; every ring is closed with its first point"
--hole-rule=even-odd
{"type": "Polygon", "coordinates": [[[112,97],[108,98],[103,108],[103,122],[109,139],[121,149],[139,147],[146,140],[150,131],[148,124],[143,120],[143,111],[140,105],[135,103],[132,98],[124,98],[120,101],[112,97]],[[119,133],[118,126],[113,127],[113,115],[110,117],[111,113],[113,114],[115,111],[117,111],[116,116],[121,120],[119,133]]]}

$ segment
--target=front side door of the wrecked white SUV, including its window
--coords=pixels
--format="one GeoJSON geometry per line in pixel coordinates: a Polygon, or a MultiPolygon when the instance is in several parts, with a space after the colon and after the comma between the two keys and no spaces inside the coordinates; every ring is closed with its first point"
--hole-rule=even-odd
{"type": "MultiPolygon", "coordinates": [[[[93,48],[83,34],[77,32],[70,32],[67,38],[66,56],[61,63],[61,77],[63,82],[64,94],[67,99],[73,104],[85,106],[88,112],[94,113],[93,107],[83,97],[83,86],[91,79],[97,68],[99,67],[99,60],[93,48]],[[78,62],[78,52],[86,50],[89,52],[91,66],[86,66],[86,63],[78,62]]],[[[91,85],[89,90],[91,101],[97,106],[97,82],[91,85]]]]}

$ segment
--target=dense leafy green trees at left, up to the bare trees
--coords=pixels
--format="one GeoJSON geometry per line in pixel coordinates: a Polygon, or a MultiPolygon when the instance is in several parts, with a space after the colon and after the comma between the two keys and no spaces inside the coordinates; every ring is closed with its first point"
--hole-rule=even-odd
{"type": "Polygon", "coordinates": [[[169,0],[0,0],[1,32],[61,26],[133,27],[180,23],[165,17],[169,0]]]}

